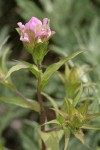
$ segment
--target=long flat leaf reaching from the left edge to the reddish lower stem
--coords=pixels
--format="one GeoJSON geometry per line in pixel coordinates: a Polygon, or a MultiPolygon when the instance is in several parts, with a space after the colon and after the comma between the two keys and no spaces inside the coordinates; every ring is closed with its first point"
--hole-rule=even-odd
{"type": "Polygon", "coordinates": [[[30,106],[27,102],[23,101],[21,98],[17,97],[0,97],[0,102],[8,103],[8,104],[14,104],[23,108],[29,108],[36,112],[40,111],[40,107],[38,102],[35,100],[28,99],[29,102],[32,103],[32,106],[30,106]],[[34,107],[33,107],[34,106],[34,107]]]}

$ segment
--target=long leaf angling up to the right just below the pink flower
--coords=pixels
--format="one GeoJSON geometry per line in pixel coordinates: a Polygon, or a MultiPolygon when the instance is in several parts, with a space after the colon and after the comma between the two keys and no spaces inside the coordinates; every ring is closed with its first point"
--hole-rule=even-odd
{"type": "Polygon", "coordinates": [[[67,61],[69,61],[70,59],[74,58],[82,52],[83,51],[77,51],[69,55],[68,57],[61,59],[59,62],[50,65],[42,75],[40,89],[43,89],[45,87],[52,74],[55,73],[63,64],[65,64],[67,61]]]}

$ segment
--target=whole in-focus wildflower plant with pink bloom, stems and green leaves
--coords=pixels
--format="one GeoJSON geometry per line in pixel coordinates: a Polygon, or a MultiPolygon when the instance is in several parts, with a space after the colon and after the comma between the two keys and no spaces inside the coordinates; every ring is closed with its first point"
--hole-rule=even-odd
{"type": "Polygon", "coordinates": [[[40,127],[38,133],[41,137],[41,150],[59,150],[60,141],[63,137],[65,137],[63,149],[66,150],[71,133],[88,146],[83,129],[100,129],[88,123],[91,119],[99,116],[100,113],[90,114],[88,112],[91,97],[84,94],[84,89],[87,86],[80,76],[82,70],[80,69],[80,72],[78,72],[76,66],[69,65],[69,60],[83,51],[76,51],[67,57],[61,58],[58,62],[47,66],[44,70],[42,64],[44,57],[48,53],[49,39],[55,34],[55,31],[52,31],[50,28],[49,19],[44,18],[42,23],[39,19],[32,17],[25,25],[19,22],[18,26],[17,31],[20,35],[20,40],[23,42],[27,52],[32,55],[34,63],[16,61],[17,64],[7,71],[6,66],[2,65],[5,64],[4,62],[8,55],[8,52],[5,53],[1,60],[0,83],[12,90],[18,98],[12,97],[5,101],[5,98],[2,97],[0,101],[28,108],[39,113],[40,127]],[[59,71],[61,66],[65,66],[64,73],[59,71]],[[13,84],[11,74],[20,69],[26,69],[36,77],[37,100],[26,98],[13,84]],[[60,77],[65,89],[65,96],[60,107],[50,95],[44,92],[44,88],[54,73],[60,77]],[[45,106],[44,98],[49,100],[52,105],[51,109],[56,114],[55,119],[51,121],[47,121],[46,109],[50,108],[45,106]]]}

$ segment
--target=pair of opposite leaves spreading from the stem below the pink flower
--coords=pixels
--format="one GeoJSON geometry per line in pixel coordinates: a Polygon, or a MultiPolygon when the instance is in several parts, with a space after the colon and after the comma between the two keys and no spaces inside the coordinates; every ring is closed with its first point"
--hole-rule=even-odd
{"type": "Polygon", "coordinates": [[[68,57],[65,57],[63,59],[61,59],[59,62],[54,63],[52,65],[50,65],[46,71],[44,73],[41,73],[36,65],[27,63],[27,62],[18,62],[17,65],[13,66],[7,73],[6,78],[7,79],[13,72],[18,71],[20,69],[28,69],[29,71],[31,71],[36,77],[41,76],[41,83],[39,86],[39,89],[43,89],[46,84],[48,83],[50,77],[53,75],[53,73],[55,73],[63,64],[65,64],[67,61],[69,61],[70,59],[76,57],[78,54],[82,53],[83,51],[77,51],[71,55],[69,55],[68,57]]]}

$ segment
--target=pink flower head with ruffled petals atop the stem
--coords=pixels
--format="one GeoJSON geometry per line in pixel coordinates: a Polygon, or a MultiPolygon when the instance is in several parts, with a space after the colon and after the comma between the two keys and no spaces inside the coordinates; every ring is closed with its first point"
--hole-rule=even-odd
{"type": "Polygon", "coordinates": [[[20,40],[30,45],[46,42],[55,34],[49,27],[48,18],[44,18],[42,23],[39,19],[32,17],[25,25],[18,22],[18,26],[21,31],[20,40]]]}

